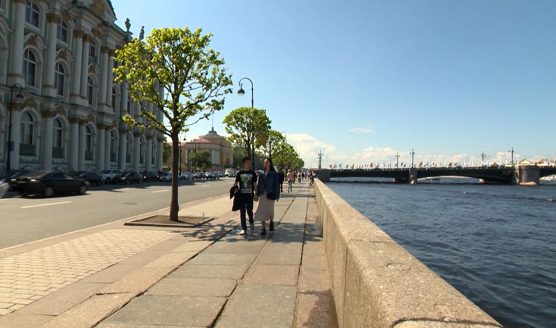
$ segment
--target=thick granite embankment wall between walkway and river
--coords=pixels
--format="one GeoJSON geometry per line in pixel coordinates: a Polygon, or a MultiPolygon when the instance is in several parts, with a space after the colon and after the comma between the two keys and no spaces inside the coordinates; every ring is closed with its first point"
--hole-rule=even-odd
{"type": "Polygon", "coordinates": [[[502,327],[317,179],[315,197],[340,328],[502,327]]]}

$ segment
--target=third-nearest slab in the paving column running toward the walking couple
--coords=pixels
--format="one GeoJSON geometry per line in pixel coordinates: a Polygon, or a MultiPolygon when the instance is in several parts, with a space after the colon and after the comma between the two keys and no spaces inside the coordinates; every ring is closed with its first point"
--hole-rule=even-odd
{"type": "Polygon", "coordinates": [[[242,279],[249,265],[186,264],[178,267],[170,277],[242,279]]]}

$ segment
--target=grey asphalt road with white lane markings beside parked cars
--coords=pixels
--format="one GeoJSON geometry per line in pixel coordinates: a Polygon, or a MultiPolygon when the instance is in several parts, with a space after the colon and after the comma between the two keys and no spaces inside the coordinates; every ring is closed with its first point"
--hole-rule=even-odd
{"type": "MultiPolygon", "coordinates": [[[[232,183],[234,178],[180,181],[178,203],[223,195],[232,183]]],[[[161,210],[170,206],[170,190],[170,182],[143,182],[50,198],[10,192],[0,199],[0,249],[161,210]]]]}

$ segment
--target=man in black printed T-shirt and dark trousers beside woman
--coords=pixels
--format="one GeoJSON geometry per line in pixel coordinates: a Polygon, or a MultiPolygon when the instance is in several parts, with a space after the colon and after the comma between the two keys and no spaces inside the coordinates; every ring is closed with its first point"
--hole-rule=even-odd
{"type": "Polygon", "coordinates": [[[239,188],[239,207],[240,207],[240,220],[241,232],[240,235],[245,235],[247,231],[247,216],[249,216],[249,225],[251,231],[255,230],[255,222],[253,221],[253,200],[255,198],[255,191],[257,190],[257,173],[251,170],[251,157],[244,156],[241,159],[243,165],[242,170],[237,173],[234,186],[239,188]]]}

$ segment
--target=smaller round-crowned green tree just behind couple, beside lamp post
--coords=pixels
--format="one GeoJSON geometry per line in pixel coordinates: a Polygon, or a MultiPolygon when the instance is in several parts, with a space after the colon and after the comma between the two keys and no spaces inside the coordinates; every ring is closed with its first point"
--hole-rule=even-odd
{"type": "Polygon", "coordinates": [[[259,142],[264,139],[271,122],[265,111],[251,107],[236,108],[222,121],[230,135],[228,140],[234,145],[245,147],[251,158],[255,158],[255,148],[259,148],[259,142]]]}

